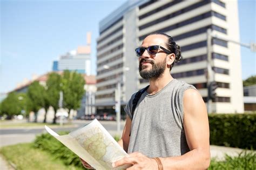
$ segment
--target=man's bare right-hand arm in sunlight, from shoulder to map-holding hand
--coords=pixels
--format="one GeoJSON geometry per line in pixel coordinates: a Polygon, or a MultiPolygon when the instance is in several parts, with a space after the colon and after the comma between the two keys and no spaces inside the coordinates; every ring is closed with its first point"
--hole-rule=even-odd
{"type": "MultiPolygon", "coordinates": [[[[183,109],[184,130],[190,152],[178,157],[160,158],[161,163],[164,169],[207,169],[210,165],[208,116],[205,103],[198,91],[194,89],[185,91],[183,109]]],[[[115,162],[114,166],[123,164],[134,164],[129,169],[157,167],[155,160],[141,153],[132,153],[130,157],[115,162]]]]}

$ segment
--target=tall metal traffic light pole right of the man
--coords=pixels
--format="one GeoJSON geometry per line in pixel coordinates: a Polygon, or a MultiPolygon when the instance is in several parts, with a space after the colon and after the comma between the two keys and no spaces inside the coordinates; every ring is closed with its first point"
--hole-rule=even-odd
{"type": "MultiPolygon", "coordinates": [[[[207,75],[206,75],[206,80],[207,80],[207,90],[209,92],[209,88],[211,81],[213,80],[213,71],[212,71],[212,30],[207,29],[207,75]]],[[[207,95],[207,111],[208,113],[212,112],[212,99],[210,98],[209,95],[207,95]]]]}

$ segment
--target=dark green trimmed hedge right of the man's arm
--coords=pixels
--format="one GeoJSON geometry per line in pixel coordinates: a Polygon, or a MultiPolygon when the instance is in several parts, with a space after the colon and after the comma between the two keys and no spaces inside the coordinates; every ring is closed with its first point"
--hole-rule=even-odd
{"type": "Polygon", "coordinates": [[[256,148],[256,114],[209,114],[210,144],[256,148]]]}

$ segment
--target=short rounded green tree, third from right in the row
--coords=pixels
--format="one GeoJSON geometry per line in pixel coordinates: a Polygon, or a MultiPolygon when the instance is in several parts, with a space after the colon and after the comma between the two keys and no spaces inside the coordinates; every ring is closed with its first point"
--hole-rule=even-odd
{"type": "Polygon", "coordinates": [[[39,81],[33,81],[28,88],[27,95],[32,101],[31,111],[35,113],[35,122],[37,122],[37,112],[45,105],[45,88],[39,84],[39,81]]]}

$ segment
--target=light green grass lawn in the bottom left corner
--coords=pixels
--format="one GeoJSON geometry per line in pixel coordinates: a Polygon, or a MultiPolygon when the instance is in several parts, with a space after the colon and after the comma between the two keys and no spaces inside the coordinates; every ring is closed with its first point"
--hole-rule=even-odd
{"type": "Polygon", "coordinates": [[[43,169],[63,169],[63,170],[82,170],[75,166],[66,166],[61,160],[56,160],[54,155],[34,148],[32,143],[17,144],[2,147],[0,153],[6,160],[16,165],[17,170],[43,170],[43,169]]]}

